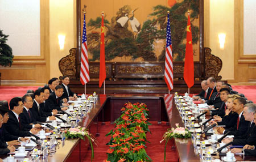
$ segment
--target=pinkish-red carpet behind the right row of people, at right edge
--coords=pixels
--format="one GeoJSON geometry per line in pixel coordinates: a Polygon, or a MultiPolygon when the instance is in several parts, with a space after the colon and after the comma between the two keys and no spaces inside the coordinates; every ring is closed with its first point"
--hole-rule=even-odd
{"type": "Polygon", "coordinates": [[[232,86],[234,91],[238,93],[243,93],[248,100],[253,101],[256,103],[256,86],[232,86]]]}

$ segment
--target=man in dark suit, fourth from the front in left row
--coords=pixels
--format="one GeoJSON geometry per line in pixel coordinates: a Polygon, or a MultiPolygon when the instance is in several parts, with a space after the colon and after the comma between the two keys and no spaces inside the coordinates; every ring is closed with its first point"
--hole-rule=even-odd
{"type": "Polygon", "coordinates": [[[55,116],[48,117],[46,113],[44,113],[44,92],[41,89],[36,89],[34,93],[35,99],[33,106],[31,108],[32,116],[39,122],[46,122],[50,120],[56,120],[55,116]]]}

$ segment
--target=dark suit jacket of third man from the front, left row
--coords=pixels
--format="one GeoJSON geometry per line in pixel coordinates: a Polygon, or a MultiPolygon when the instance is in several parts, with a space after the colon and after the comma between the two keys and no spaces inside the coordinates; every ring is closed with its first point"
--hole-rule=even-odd
{"type": "Polygon", "coordinates": [[[32,129],[32,125],[30,123],[36,124],[36,119],[34,118],[31,110],[30,110],[30,116],[29,116],[27,110],[23,108],[23,113],[21,113],[19,117],[22,122],[22,126],[27,130],[32,129]]]}

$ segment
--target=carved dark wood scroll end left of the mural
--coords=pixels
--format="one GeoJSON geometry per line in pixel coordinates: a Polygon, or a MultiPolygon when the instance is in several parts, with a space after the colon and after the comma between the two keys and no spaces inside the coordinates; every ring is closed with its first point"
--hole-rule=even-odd
{"type": "Polygon", "coordinates": [[[69,50],[69,55],[63,57],[59,61],[59,69],[61,74],[76,79],[76,48],[69,50]]]}

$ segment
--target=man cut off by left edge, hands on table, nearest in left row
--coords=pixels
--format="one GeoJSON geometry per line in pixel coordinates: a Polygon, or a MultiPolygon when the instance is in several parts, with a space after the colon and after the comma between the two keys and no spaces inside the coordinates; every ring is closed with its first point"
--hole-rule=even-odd
{"type": "Polygon", "coordinates": [[[9,108],[5,106],[0,106],[0,113],[3,116],[3,125],[0,128],[0,140],[5,142],[7,145],[18,145],[20,141],[26,141],[28,138],[18,137],[15,135],[10,134],[5,129],[5,123],[9,120],[9,108]]]}

